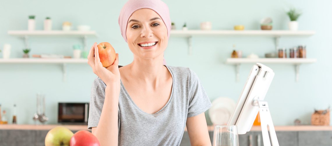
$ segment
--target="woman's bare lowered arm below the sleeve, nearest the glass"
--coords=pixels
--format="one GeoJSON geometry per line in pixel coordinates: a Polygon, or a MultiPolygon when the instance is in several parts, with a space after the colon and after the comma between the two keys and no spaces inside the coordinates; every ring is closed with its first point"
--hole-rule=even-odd
{"type": "Polygon", "coordinates": [[[211,146],[204,112],[187,118],[187,131],[192,146],[211,146]]]}

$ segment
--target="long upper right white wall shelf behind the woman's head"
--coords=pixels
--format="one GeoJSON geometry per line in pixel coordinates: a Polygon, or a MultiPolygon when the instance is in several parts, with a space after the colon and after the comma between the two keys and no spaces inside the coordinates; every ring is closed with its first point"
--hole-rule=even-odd
{"type": "Polygon", "coordinates": [[[188,38],[188,54],[192,53],[192,37],[194,36],[257,36],[272,37],[275,39],[275,48],[279,48],[280,37],[309,37],[315,34],[315,31],[289,31],[289,30],[171,30],[172,37],[188,38]]]}

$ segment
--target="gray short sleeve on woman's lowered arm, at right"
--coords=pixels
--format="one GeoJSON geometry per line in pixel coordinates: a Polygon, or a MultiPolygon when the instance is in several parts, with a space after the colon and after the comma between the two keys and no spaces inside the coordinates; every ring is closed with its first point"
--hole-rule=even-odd
{"type": "Polygon", "coordinates": [[[187,117],[197,116],[212,106],[197,74],[190,70],[189,76],[189,107],[187,117]]]}

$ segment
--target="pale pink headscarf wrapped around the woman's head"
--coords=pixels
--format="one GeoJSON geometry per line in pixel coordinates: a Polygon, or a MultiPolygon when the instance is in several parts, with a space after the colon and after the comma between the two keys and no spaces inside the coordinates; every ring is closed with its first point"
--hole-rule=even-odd
{"type": "MultiPolygon", "coordinates": [[[[128,0],[123,8],[121,9],[119,16],[119,26],[121,30],[121,35],[124,38],[124,41],[127,42],[126,30],[129,17],[136,10],[148,8],[155,11],[160,18],[163,20],[167,28],[167,37],[169,39],[171,32],[171,18],[169,16],[168,6],[161,0],[128,0]]],[[[163,64],[166,65],[165,59],[163,64]]]]}

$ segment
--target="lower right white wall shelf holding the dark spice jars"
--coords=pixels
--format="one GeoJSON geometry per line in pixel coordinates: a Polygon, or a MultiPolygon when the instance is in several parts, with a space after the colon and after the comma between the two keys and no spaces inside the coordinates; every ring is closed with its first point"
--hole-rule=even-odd
{"type": "Polygon", "coordinates": [[[234,65],[236,72],[236,80],[239,81],[239,69],[241,64],[290,64],[295,67],[295,81],[299,80],[299,66],[301,64],[315,63],[317,59],[307,59],[307,58],[258,58],[258,59],[248,59],[248,58],[227,58],[226,64],[234,65]]]}

